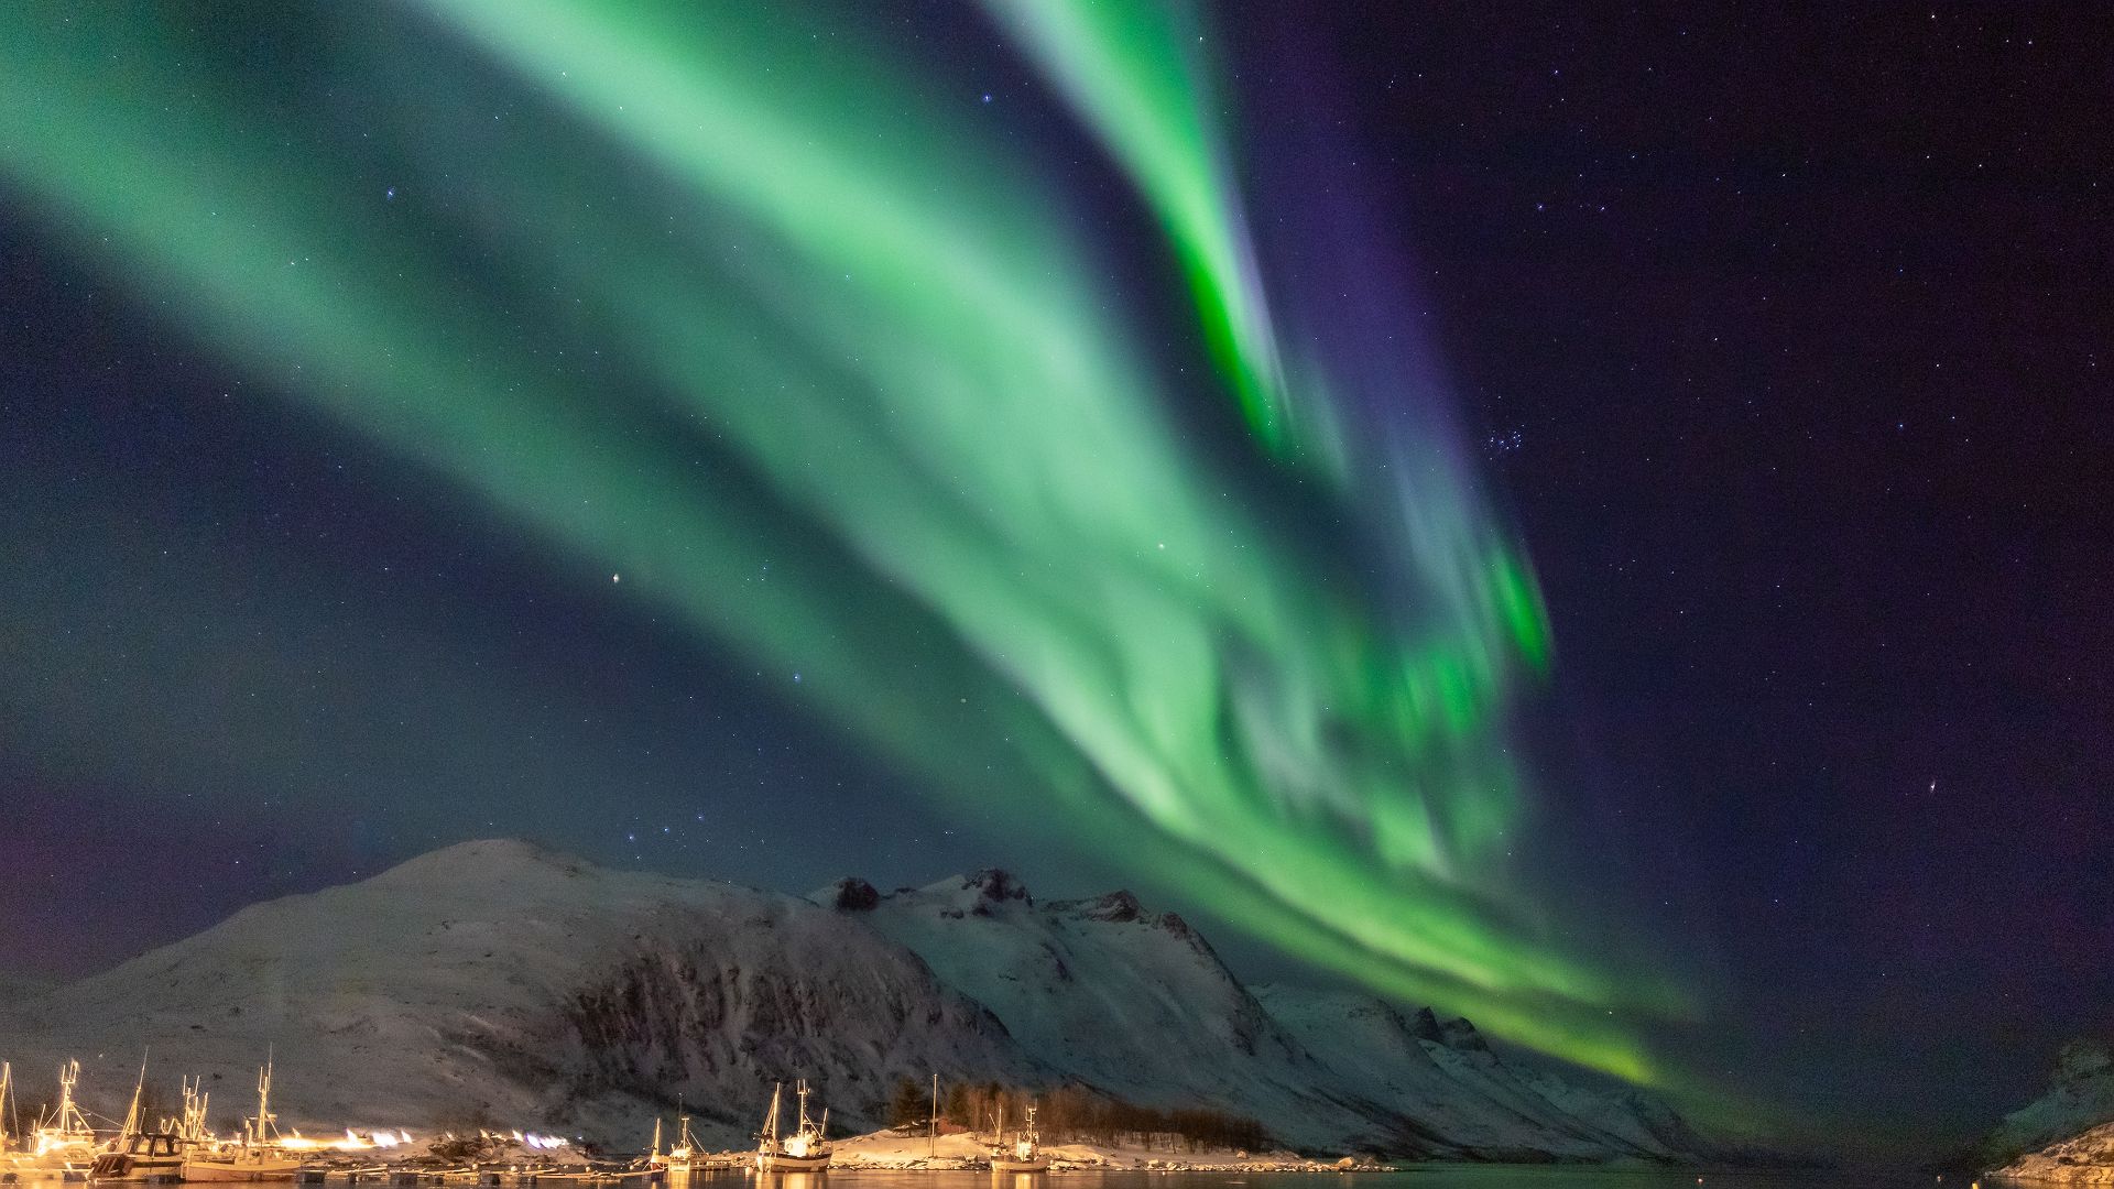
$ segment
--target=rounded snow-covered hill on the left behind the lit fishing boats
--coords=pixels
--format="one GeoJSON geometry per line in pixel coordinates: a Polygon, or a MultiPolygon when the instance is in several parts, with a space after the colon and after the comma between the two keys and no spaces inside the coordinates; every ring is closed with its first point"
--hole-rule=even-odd
{"type": "Polygon", "coordinates": [[[275,1045],[290,1123],[482,1117],[638,1147],[649,1102],[676,1098],[734,1142],[776,1079],[816,1081],[858,1121],[901,1075],[1044,1075],[987,1011],[837,914],[522,842],[252,906],[0,1016],[32,1094],[80,1056],[106,1113],[146,1045],[169,1077],[224,1071],[216,1113],[243,1104],[275,1045]]]}

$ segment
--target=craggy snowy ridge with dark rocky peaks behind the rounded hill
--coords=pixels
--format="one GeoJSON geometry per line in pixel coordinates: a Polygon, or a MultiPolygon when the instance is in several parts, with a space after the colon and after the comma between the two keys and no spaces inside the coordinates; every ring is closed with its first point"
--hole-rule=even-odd
{"type": "Polygon", "coordinates": [[[1659,1102],[1514,1071],[1467,1020],[1359,994],[1245,988],[1131,893],[1038,906],[1004,872],[812,899],[873,920],[1027,1051],[1144,1104],[1218,1104],[1309,1149],[1473,1159],[1714,1153],[1659,1102]],[[1152,1054],[1150,1062],[1139,1054],[1152,1054]]]}

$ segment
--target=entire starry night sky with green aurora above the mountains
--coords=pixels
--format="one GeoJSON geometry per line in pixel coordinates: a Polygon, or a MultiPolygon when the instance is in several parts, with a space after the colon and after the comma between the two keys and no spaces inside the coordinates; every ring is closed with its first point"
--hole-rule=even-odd
{"type": "Polygon", "coordinates": [[[499,834],[1852,1149],[2114,1024],[2095,13],[989,8],[0,17],[0,975],[499,834]]]}

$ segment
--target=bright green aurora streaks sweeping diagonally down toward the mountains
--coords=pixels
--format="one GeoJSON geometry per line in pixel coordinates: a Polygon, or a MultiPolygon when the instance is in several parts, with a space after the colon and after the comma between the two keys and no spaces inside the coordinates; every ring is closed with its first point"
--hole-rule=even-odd
{"type": "Polygon", "coordinates": [[[1683,996],[1564,952],[1503,865],[1503,707],[1547,652],[1522,554],[1459,472],[1376,474],[1325,368],[1273,336],[1197,34],[1148,6],[994,11],[1156,214],[1258,457],[1347,506],[1391,493],[1399,580],[1332,578],[1228,493],[1061,190],[848,13],[431,0],[395,15],[416,51],[319,40],[334,78],[416,76],[404,152],[457,178],[505,309],[347,201],[357,146],[154,6],[0,8],[0,176],[161,317],[799,669],[939,793],[1061,823],[1389,996],[1659,1081],[1638,1024],[1683,996]],[[522,87],[476,161],[440,159],[482,116],[433,61],[522,87]],[[649,195],[575,201],[624,182],[537,129],[586,129],[649,195]],[[579,311],[626,383],[522,332],[579,311]]]}

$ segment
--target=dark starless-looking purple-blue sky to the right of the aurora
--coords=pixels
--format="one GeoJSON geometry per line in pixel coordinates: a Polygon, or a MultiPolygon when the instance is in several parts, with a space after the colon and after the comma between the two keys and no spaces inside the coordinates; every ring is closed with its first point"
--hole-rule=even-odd
{"type": "Polygon", "coordinates": [[[1545,582],[1556,861],[1721,971],[1729,1075],[1871,1126],[2114,1016],[2114,112],[2038,13],[1342,42],[1545,582]]]}

